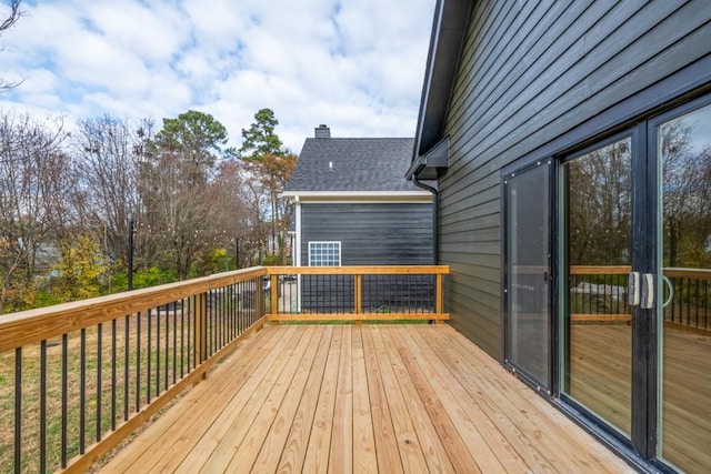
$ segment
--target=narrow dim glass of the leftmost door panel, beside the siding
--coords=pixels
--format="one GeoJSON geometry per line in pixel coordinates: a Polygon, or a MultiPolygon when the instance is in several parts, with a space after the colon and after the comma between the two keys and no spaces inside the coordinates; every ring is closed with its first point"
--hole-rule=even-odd
{"type": "Polygon", "coordinates": [[[505,359],[550,387],[550,162],[507,177],[505,359]]]}

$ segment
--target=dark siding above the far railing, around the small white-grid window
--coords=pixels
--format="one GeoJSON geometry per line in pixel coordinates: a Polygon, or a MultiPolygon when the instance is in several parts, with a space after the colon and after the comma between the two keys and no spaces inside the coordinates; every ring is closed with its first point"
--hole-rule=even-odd
{"type": "Polygon", "coordinates": [[[301,263],[310,241],[340,241],[343,265],[432,264],[429,203],[301,204],[301,263]]]}

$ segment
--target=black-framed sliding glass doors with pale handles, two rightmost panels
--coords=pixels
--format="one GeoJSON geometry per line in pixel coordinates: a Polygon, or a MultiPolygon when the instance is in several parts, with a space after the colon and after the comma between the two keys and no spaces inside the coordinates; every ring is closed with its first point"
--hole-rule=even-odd
{"type": "Polygon", "coordinates": [[[561,157],[563,400],[643,458],[711,468],[711,99],[561,157]]]}

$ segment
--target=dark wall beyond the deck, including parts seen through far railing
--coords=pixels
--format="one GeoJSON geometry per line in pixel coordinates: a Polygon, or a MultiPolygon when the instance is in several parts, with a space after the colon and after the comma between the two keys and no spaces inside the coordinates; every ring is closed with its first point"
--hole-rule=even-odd
{"type": "MultiPolygon", "coordinates": [[[[431,264],[432,204],[302,203],[303,265],[309,265],[309,242],[340,242],[341,265],[431,264]]],[[[303,310],[352,311],[352,276],[324,282],[319,276],[304,275],[301,285],[303,310]]],[[[412,281],[410,276],[365,276],[362,286],[365,311],[384,306],[407,311],[409,303],[434,307],[433,278],[412,281]]]]}

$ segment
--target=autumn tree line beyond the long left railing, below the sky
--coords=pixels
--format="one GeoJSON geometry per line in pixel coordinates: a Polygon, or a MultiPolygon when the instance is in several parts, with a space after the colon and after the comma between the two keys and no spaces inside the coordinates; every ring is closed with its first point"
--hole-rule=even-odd
{"type": "Polygon", "coordinates": [[[287,263],[297,157],[262,109],[242,145],[194,110],[129,122],[0,117],[0,314],[287,263]],[[133,265],[128,268],[131,236],[133,265]]]}

